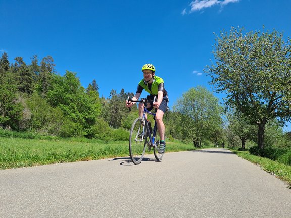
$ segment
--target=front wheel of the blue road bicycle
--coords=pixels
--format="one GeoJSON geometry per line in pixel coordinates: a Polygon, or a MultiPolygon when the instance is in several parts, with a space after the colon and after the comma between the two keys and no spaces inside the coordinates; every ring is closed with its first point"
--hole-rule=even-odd
{"type": "Polygon", "coordinates": [[[132,124],[129,136],[129,154],[132,162],[141,162],[147,147],[147,134],[143,118],[136,118],[132,124]]]}

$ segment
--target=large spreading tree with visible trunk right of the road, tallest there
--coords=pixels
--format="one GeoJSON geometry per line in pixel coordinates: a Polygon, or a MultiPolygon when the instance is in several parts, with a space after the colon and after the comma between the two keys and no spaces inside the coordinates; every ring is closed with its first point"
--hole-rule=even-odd
{"type": "Polygon", "coordinates": [[[266,123],[291,118],[291,46],[277,31],[243,32],[232,27],[217,36],[216,64],[206,72],[214,90],[227,93],[226,105],[258,126],[258,146],[263,149],[266,123]]]}

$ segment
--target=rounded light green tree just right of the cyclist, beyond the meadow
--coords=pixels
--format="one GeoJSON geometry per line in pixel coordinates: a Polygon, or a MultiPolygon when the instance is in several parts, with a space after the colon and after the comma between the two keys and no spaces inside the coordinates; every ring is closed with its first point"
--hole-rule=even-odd
{"type": "Polygon", "coordinates": [[[222,108],[218,99],[201,86],[184,93],[174,105],[174,111],[182,114],[183,137],[192,139],[195,147],[201,147],[201,143],[210,139],[222,125],[222,108]]]}

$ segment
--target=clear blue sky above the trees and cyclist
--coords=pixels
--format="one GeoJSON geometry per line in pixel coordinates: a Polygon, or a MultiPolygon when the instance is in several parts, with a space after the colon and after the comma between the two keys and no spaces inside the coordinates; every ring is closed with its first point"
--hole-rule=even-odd
{"type": "Polygon", "coordinates": [[[213,33],[264,25],[287,38],[290,11],[290,0],[0,0],[0,54],[27,64],[50,55],[58,74],[76,72],[85,88],[95,79],[104,97],[135,92],[142,65],[152,63],[172,108],[192,87],[212,91],[203,69],[213,59],[213,33]]]}

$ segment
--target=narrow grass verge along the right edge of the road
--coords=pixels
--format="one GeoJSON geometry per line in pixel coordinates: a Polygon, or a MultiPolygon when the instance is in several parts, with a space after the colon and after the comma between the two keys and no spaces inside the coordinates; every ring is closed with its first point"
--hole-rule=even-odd
{"type": "Polygon", "coordinates": [[[246,160],[260,165],[263,170],[275,174],[275,176],[287,181],[291,185],[291,166],[284,165],[283,163],[268,158],[251,155],[248,151],[231,151],[246,160]]]}

